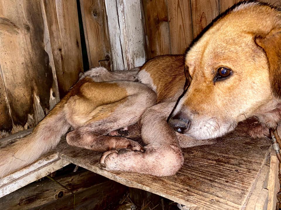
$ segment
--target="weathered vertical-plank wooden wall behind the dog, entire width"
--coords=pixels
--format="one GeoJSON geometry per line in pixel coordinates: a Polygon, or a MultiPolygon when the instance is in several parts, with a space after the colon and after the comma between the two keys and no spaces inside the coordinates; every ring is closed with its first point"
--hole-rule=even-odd
{"type": "Polygon", "coordinates": [[[184,53],[237,1],[1,0],[0,138],[34,127],[83,71],[77,6],[89,66],[106,60],[100,64],[114,71],[184,53]]]}

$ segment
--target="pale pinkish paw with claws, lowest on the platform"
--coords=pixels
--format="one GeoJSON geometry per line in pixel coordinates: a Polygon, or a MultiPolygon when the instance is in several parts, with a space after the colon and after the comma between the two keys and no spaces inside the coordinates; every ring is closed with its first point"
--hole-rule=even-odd
{"type": "Polygon", "coordinates": [[[100,158],[100,165],[102,169],[107,171],[134,171],[134,167],[138,167],[132,164],[133,158],[140,157],[142,155],[139,151],[133,151],[131,149],[109,150],[103,153],[100,158]]]}

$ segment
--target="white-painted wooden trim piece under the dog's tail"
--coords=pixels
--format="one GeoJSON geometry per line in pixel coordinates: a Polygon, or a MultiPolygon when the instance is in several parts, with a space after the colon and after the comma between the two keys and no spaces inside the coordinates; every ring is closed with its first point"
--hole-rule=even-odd
{"type": "Polygon", "coordinates": [[[0,197],[22,188],[62,167],[70,164],[54,151],[40,157],[34,163],[0,179],[0,197]]]}

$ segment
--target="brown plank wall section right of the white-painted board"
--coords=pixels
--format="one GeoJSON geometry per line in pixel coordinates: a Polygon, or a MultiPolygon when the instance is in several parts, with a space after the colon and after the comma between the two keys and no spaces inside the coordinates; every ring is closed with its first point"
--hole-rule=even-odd
{"type": "MultiPolygon", "coordinates": [[[[143,0],[147,58],[183,54],[217,15],[239,0],[143,0]]],[[[280,0],[265,2],[280,6],[280,0]]]]}

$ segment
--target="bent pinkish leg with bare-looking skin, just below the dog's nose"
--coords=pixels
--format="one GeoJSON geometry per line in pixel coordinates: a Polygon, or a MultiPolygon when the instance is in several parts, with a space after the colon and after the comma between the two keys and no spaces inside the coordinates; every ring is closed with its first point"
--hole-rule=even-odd
{"type": "Polygon", "coordinates": [[[107,151],[101,157],[106,170],[131,171],[155,176],[175,174],[183,164],[183,155],[175,132],[167,124],[174,103],[148,108],[142,115],[141,136],[145,152],[122,149],[107,151]],[[167,108],[170,108],[167,110],[167,108]]]}

